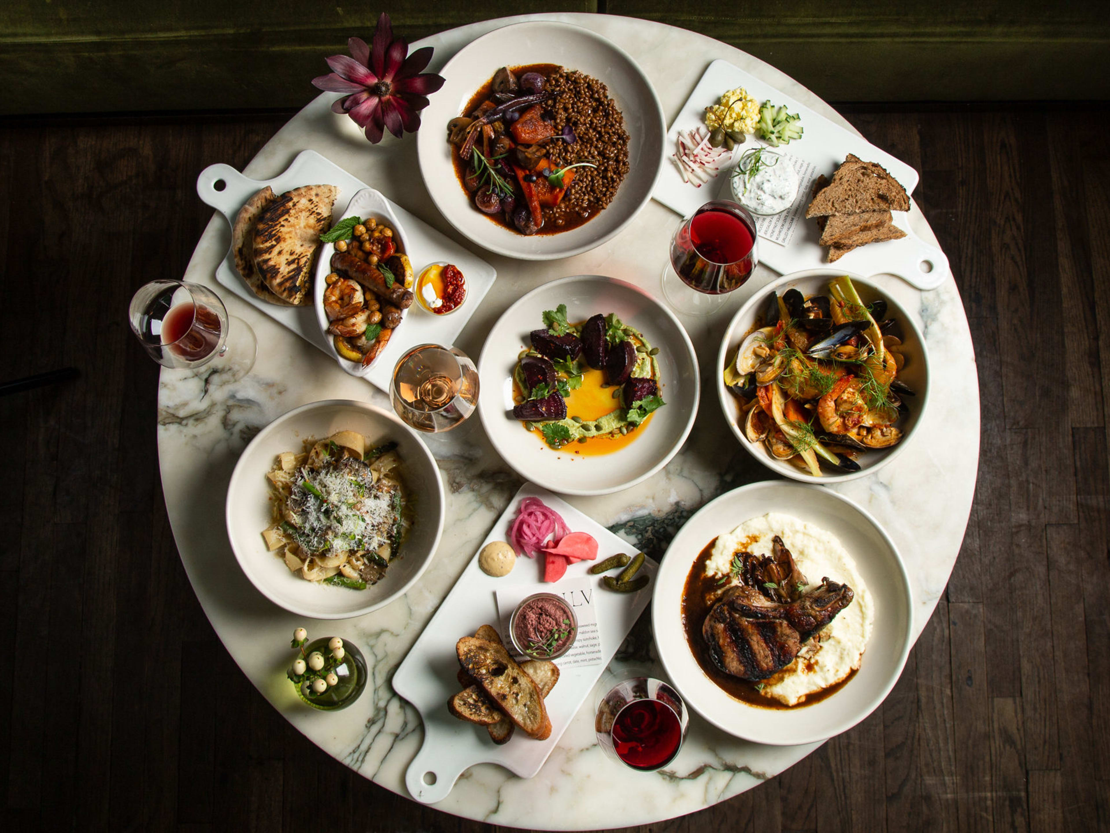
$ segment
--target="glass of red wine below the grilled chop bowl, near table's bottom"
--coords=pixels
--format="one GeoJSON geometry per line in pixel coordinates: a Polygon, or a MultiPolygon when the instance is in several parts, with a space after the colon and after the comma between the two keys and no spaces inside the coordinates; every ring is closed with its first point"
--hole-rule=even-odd
{"type": "Polygon", "coordinates": [[[688,723],[686,705],[670,685],[633,676],[602,697],[594,730],[607,754],[634,770],[654,772],[678,754],[688,723]]]}

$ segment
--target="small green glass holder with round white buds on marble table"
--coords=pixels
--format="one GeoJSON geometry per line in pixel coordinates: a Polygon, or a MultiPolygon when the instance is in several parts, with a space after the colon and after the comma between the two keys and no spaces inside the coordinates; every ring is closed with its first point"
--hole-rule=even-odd
{"type": "Polygon", "coordinates": [[[366,688],[366,660],[355,645],[335,636],[309,642],[303,628],[294,633],[292,645],[300,656],[286,675],[297,696],[313,709],[346,709],[366,688]]]}

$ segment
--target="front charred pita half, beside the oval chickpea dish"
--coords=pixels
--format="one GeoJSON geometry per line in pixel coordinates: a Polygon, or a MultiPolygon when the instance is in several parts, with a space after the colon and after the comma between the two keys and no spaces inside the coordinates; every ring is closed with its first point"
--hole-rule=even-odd
{"type": "Polygon", "coordinates": [[[337,193],[335,185],[294,188],[259,214],[254,269],[271,292],[294,307],[312,303],[312,267],[337,193]]]}

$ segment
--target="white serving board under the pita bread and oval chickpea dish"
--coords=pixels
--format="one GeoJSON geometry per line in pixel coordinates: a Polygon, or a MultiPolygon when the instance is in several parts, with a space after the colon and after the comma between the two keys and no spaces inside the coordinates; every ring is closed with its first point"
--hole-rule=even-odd
{"type": "MultiPolygon", "coordinates": [[[[316,184],[336,185],[340,189],[335,207],[332,209],[333,222],[343,218],[351,198],[367,188],[365,182],[352,177],[315,151],[303,150],[284,172],[268,180],[250,179],[228,164],[209,165],[196,178],[196,193],[200,194],[201,200],[228,218],[228,222],[234,227],[235,218],[243,203],[260,189],[270,185],[274,193],[281,194],[300,185],[316,184]],[[216,190],[218,184],[222,185],[220,190],[216,190]]],[[[405,211],[394,202],[389,200],[387,202],[404,227],[408,240],[408,259],[416,273],[420,274],[423,267],[435,261],[454,263],[466,277],[466,302],[451,315],[417,314],[422,310],[408,311],[413,314],[405,315],[401,327],[396,329],[390,343],[365,377],[376,388],[386,392],[390,390],[393,365],[396,360],[406,350],[417,344],[453,344],[497,277],[497,271],[484,260],[444,237],[415,214],[405,211]]],[[[235,258],[231,247],[228,248],[228,254],[216,268],[215,278],[221,285],[230,289],[252,307],[261,310],[278,323],[284,324],[327,355],[335,357],[335,353],[327,347],[313,307],[311,304],[307,307],[279,307],[255,295],[240,277],[239,270],[235,269],[235,258]]],[[[265,349],[262,344],[259,347],[265,349]]]]}

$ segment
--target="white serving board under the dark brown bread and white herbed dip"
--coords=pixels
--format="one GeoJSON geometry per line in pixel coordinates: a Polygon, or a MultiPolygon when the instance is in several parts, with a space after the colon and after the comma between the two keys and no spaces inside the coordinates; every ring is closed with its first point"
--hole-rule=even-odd
{"type": "MultiPolygon", "coordinates": [[[[817,173],[824,173],[830,179],[847,154],[855,153],[865,161],[878,162],[886,168],[907,193],[912,193],[917,188],[918,173],[910,165],[876,148],[862,137],[834,124],[824,116],[795,101],[767,82],[760,81],[750,72],[745,72],[728,61],[717,60],[706,69],[667,133],[663,171],[655,183],[652,197],[670,210],[677,211],[683,217],[689,217],[709,200],[731,199],[728,184],[731,168],[739,161],[744,150],[760,144],[755,137],[749,136],[734,153],[733,162],[700,188],[683,181],[670,155],[675,152],[678,131],[704,127],[705,108],[716,104],[723,92],[737,87],[746,89],[760,103],[769,99],[771,103],[785,104],[791,113],[801,117],[801,128],[805,131],[801,139],[795,139],[775,150],[813,162],[817,173]]],[[[808,191],[798,194],[795,204],[799,202],[809,203],[808,191]]],[[[905,238],[861,245],[836,261],[835,268],[844,267],[845,271],[868,277],[896,274],[921,290],[939,287],[948,277],[948,258],[940,249],[926,243],[910,230],[906,212],[895,211],[894,223],[906,232],[905,238]]],[[[760,238],[759,262],[783,274],[829,265],[826,261],[827,250],[817,242],[818,238],[820,231],[814,220],[804,220],[799,224],[789,245],[760,238]]]]}

